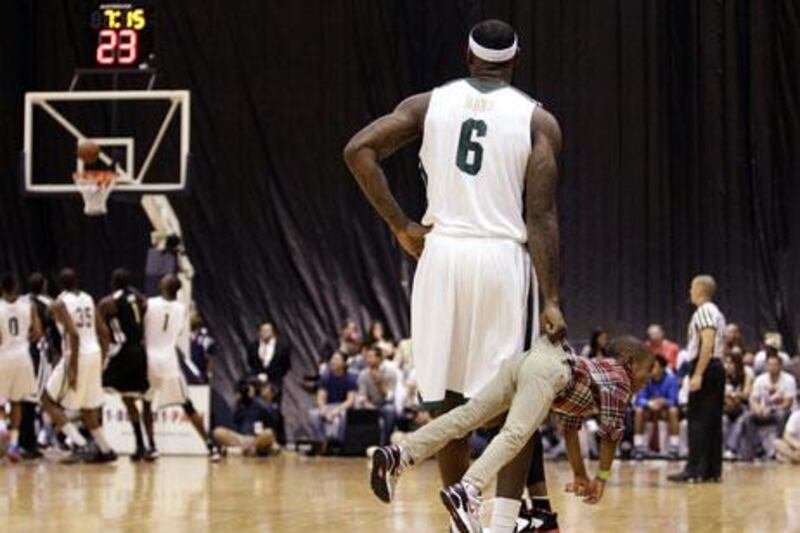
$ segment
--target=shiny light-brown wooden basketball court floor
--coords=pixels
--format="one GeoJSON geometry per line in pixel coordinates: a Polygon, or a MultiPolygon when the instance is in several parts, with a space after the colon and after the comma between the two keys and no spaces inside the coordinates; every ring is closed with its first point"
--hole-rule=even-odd
{"type": "MultiPolygon", "coordinates": [[[[604,500],[561,489],[566,462],[547,474],[565,532],[800,531],[800,468],[726,464],[719,485],[671,485],[665,462],[622,463],[604,500]]],[[[401,479],[396,502],[369,491],[366,459],[164,457],[156,464],[0,465],[0,531],[445,532],[433,462],[401,479]]]]}

